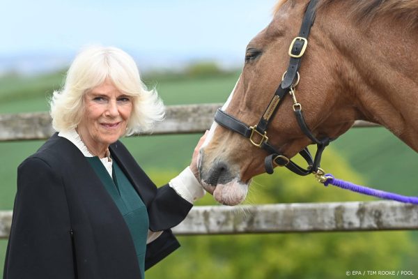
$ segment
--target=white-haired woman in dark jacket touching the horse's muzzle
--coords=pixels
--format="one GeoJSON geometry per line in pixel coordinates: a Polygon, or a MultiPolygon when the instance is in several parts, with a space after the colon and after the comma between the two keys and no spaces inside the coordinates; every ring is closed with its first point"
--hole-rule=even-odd
{"type": "Polygon", "coordinates": [[[81,52],[50,105],[59,133],[18,168],[4,278],[144,279],[204,195],[200,142],[190,167],[156,188],[118,139],[150,130],[164,107],[114,47],[81,52]]]}

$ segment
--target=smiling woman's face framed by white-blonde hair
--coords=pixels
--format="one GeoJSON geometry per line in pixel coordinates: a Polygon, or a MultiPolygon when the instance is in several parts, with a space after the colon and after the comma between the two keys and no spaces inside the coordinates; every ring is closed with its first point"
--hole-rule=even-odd
{"type": "Polygon", "coordinates": [[[133,100],[105,81],[86,92],[84,105],[84,116],[77,129],[87,148],[98,156],[126,132],[133,100]]]}

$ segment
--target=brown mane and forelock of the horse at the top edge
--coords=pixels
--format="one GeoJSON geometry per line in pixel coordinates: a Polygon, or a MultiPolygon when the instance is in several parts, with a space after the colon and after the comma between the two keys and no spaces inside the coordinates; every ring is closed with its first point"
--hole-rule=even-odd
{"type": "MultiPolygon", "coordinates": [[[[286,1],[295,0],[279,0],[274,6],[274,15],[286,1]]],[[[336,0],[319,0],[316,9],[320,13],[336,2],[336,0]]],[[[395,20],[402,20],[407,28],[418,27],[418,0],[343,0],[341,3],[347,6],[348,15],[359,24],[369,24],[375,17],[392,17],[395,20]]]]}

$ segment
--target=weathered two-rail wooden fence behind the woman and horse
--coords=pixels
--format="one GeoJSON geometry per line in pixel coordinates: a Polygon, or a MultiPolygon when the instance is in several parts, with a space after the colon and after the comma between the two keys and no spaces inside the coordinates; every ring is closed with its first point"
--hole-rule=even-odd
{"type": "MultiPolygon", "coordinates": [[[[153,135],[203,133],[221,104],[167,107],[153,135]]],[[[377,126],[356,121],[355,127],[377,126]]],[[[54,133],[47,112],[0,115],[0,142],[45,140],[54,133]]],[[[12,211],[0,211],[0,238],[10,232],[12,211]]],[[[173,229],[179,235],[266,232],[332,232],[418,229],[418,206],[398,202],[330,202],[194,206],[173,229]]]]}

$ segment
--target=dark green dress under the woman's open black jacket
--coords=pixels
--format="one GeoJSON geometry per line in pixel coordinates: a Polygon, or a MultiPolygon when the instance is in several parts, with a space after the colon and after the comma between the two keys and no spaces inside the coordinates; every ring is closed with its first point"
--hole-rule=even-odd
{"type": "Polygon", "coordinates": [[[115,160],[112,163],[112,179],[98,157],[86,157],[86,159],[98,174],[104,188],[125,219],[137,251],[141,278],[144,279],[146,239],[149,227],[146,206],[115,160]]]}

